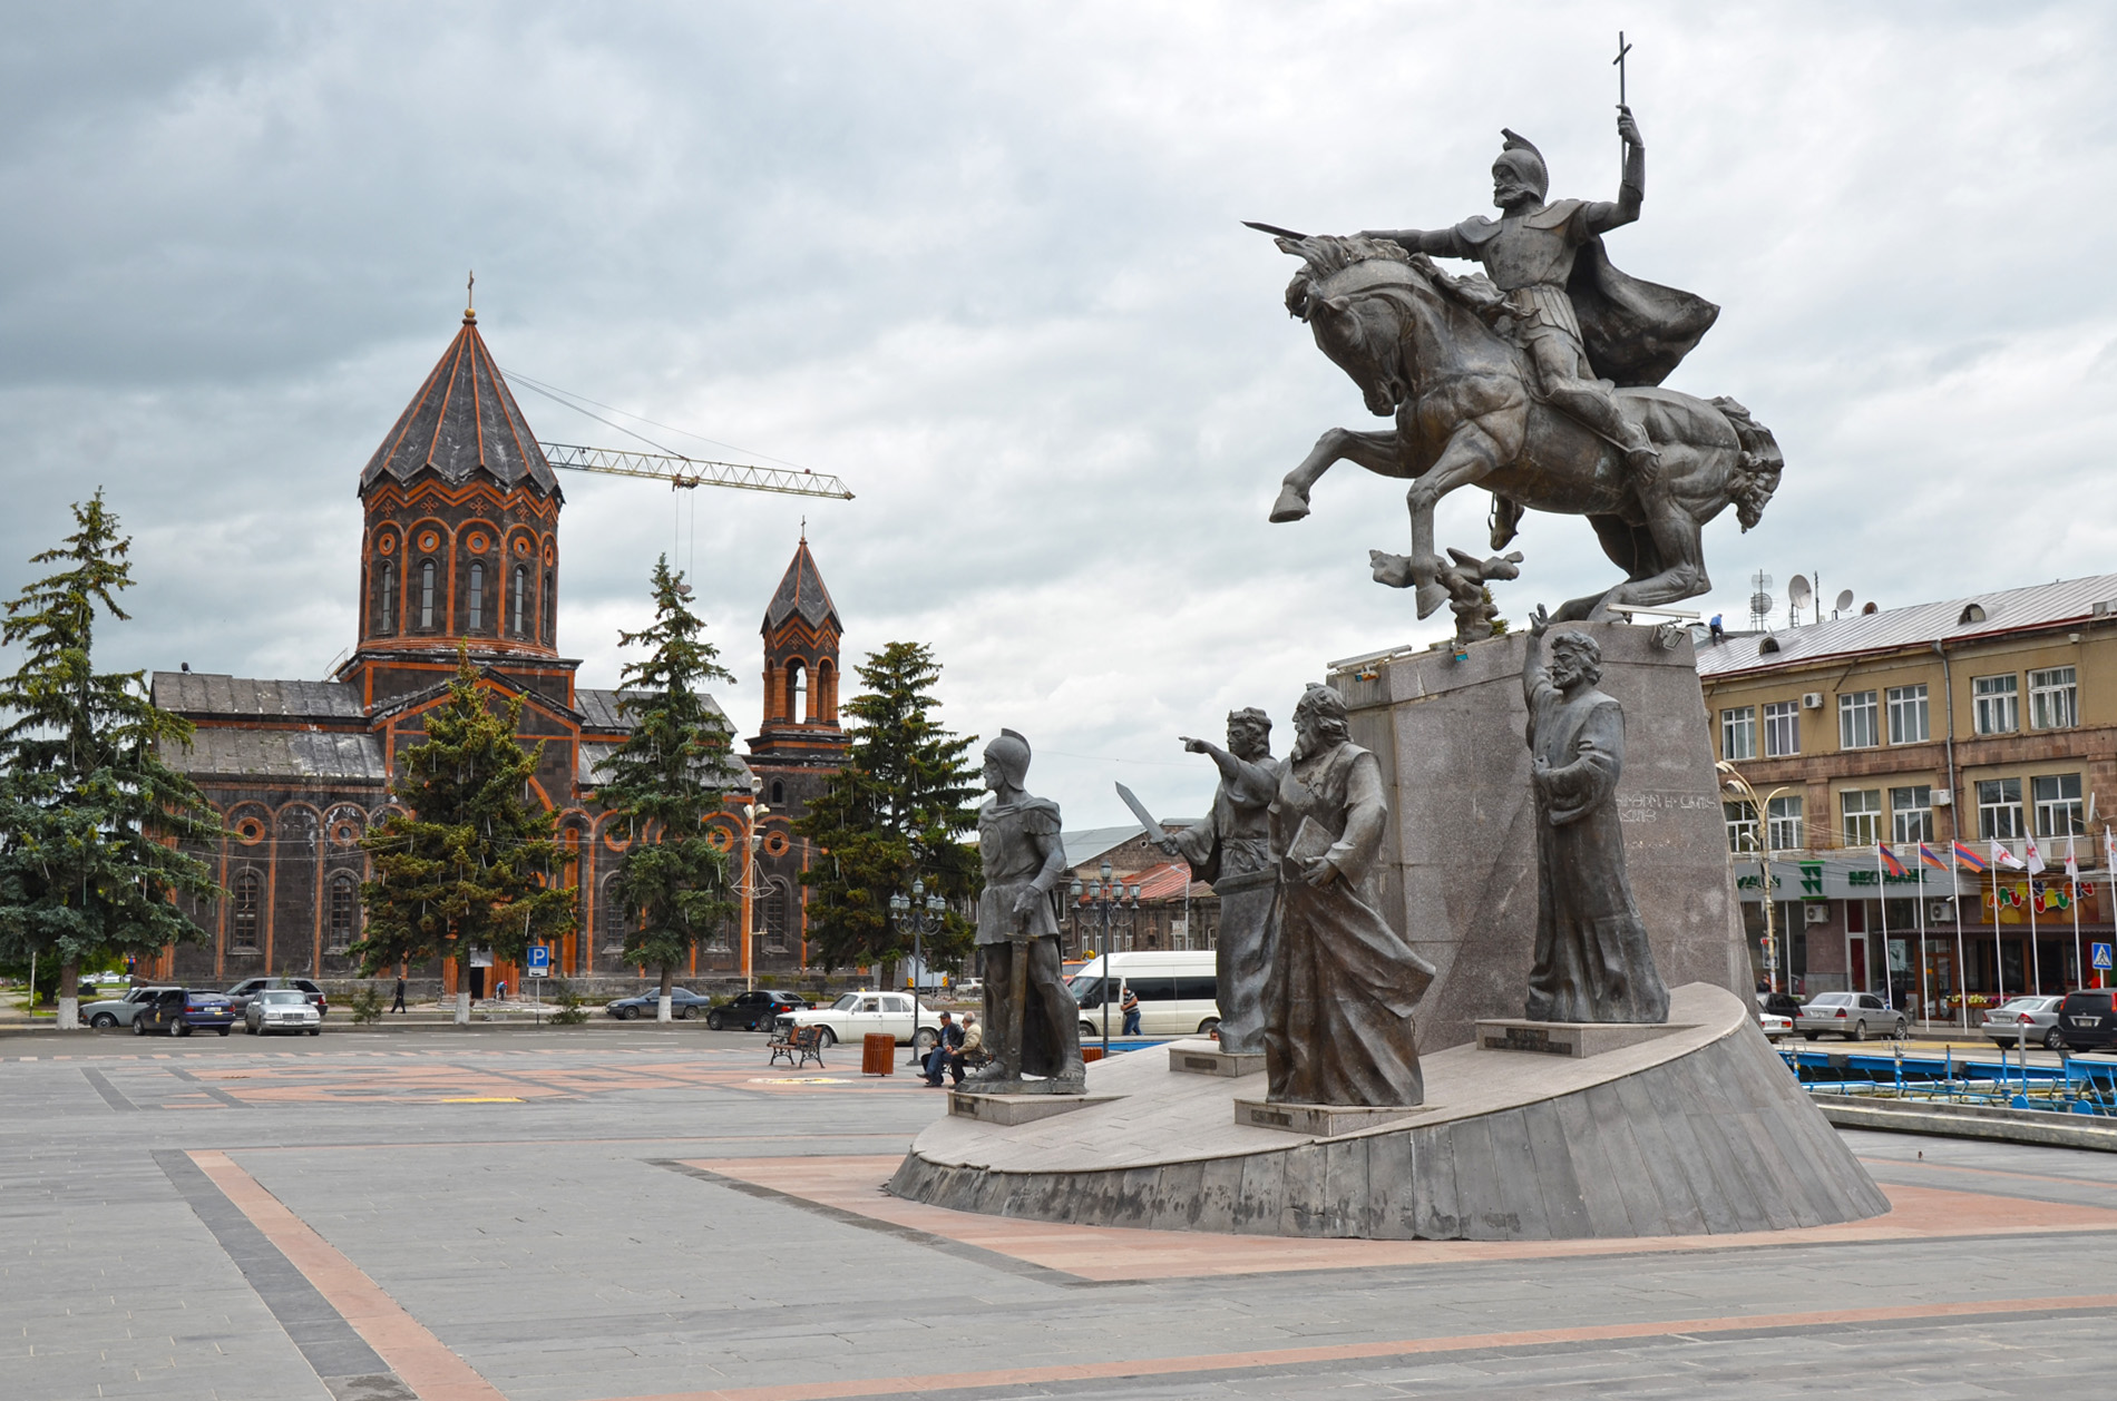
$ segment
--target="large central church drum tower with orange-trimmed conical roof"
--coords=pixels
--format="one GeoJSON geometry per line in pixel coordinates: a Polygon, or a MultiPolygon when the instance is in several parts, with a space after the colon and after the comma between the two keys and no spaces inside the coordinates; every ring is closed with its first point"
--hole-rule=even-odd
{"type": "Polygon", "coordinates": [[[559,658],[559,480],[464,311],[440,362],[360,472],[364,705],[426,690],[457,648],[572,705],[559,658]]]}

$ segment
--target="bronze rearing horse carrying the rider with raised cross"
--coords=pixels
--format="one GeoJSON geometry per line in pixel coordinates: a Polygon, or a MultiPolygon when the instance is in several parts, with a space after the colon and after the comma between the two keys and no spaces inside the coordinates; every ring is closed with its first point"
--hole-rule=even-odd
{"type": "Polygon", "coordinates": [[[1416,588],[1421,618],[1448,601],[1433,508],[1456,487],[1588,516],[1626,578],[1569,601],[1560,620],[1706,593],[1706,521],[1734,506],[1747,531],[1763,516],[1785,457],[1770,430],[1734,400],[1620,389],[1620,408],[1662,453],[1655,480],[1636,487],[1613,444],[1537,398],[1522,351],[1484,320],[1497,292],[1482,277],[1450,277],[1425,254],[1380,239],[1283,237],[1279,248],[1304,262],[1287,288],[1287,311],[1308,322],[1323,353],[1359,385],[1368,411],[1395,417],[1397,427],[1325,432],[1287,474],[1272,521],[1306,516],[1310,487],[1336,461],[1410,478],[1412,552],[1370,550],[1370,561],[1378,582],[1416,588]]]}

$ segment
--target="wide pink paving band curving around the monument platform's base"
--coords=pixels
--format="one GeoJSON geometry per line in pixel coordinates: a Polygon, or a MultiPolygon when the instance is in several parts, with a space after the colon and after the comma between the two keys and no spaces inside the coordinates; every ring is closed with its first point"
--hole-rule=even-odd
{"type": "Polygon", "coordinates": [[[1759,1244],[1844,1244],[1850,1240],[1931,1240],[1948,1236],[2037,1236],[2117,1232],[2117,1211],[2037,1202],[1943,1187],[1884,1185],[1890,1211],[1869,1221],[1725,1236],[1641,1236],[1628,1240],[1336,1240],[1217,1236],[1114,1225],[1063,1225],[987,1217],[881,1191],[898,1158],[690,1158],[688,1166],[906,1225],[1046,1270],[1090,1280],[1200,1278],[1277,1270],[1372,1270],[1448,1266],[1488,1259],[1562,1259],[1666,1251],[1738,1251],[1759,1244]]]}

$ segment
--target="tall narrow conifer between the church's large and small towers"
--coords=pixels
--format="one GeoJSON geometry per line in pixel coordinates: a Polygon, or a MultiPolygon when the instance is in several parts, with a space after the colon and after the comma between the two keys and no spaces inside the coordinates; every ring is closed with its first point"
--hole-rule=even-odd
{"type": "Polygon", "coordinates": [[[737,910],[726,859],[705,830],[735,781],[732,734],[701,692],[735,677],[699,637],[705,620],[690,612],[686,595],[690,588],[663,554],[654,565],[654,624],[618,633],[620,648],[650,648],[644,660],[625,665],[620,679],[618,715],[633,730],[595,766],[597,798],[629,823],[633,838],[610,883],[631,912],[625,957],[661,969],[663,1022],[677,965],[737,910]]]}

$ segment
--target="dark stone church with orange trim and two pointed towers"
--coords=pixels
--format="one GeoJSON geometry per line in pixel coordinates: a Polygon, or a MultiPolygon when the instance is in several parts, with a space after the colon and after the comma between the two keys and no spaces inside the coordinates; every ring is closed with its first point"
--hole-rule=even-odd
{"type": "MultiPolygon", "coordinates": [[[[358,976],[345,948],[362,925],[360,836],[390,808],[396,758],[419,743],[457,648],[468,648],[481,688],[523,698],[521,743],[544,745],[533,787],[559,813],[574,857],[565,880],[580,891],[580,927],[555,950],[555,971],[637,978],[641,969],[620,957],[625,910],[610,899],[627,830],[595,800],[595,764],[622,743],[627,724],[618,692],[576,686],[580,662],[559,650],[565,495],[474,311],[360,472],[360,639],[330,679],[155,673],[155,703],[197,726],[193,749],[169,760],[205,789],[229,834],[199,853],[222,887],[191,910],[207,940],[163,952],[150,976],[193,986],[252,974],[358,976]]],[[[762,724],[711,823],[728,853],[756,823],[743,904],[747,965],[758,974],[807,967],[800,872],[813,853],[790,823],[845,758],[838,633],[802,538],[764,609],[762,724]],[[768,811],[747,813],[752,789],[768,811]]],[[[739,976],[743,954],[730,925],[684,971],[739,976]]],[[[521,969],[476,957],[468,969],[436,961],[406,976],[421,990],[453,993],[459,980],[476,995],[497,980],[521,986],[521,969]]]]}

